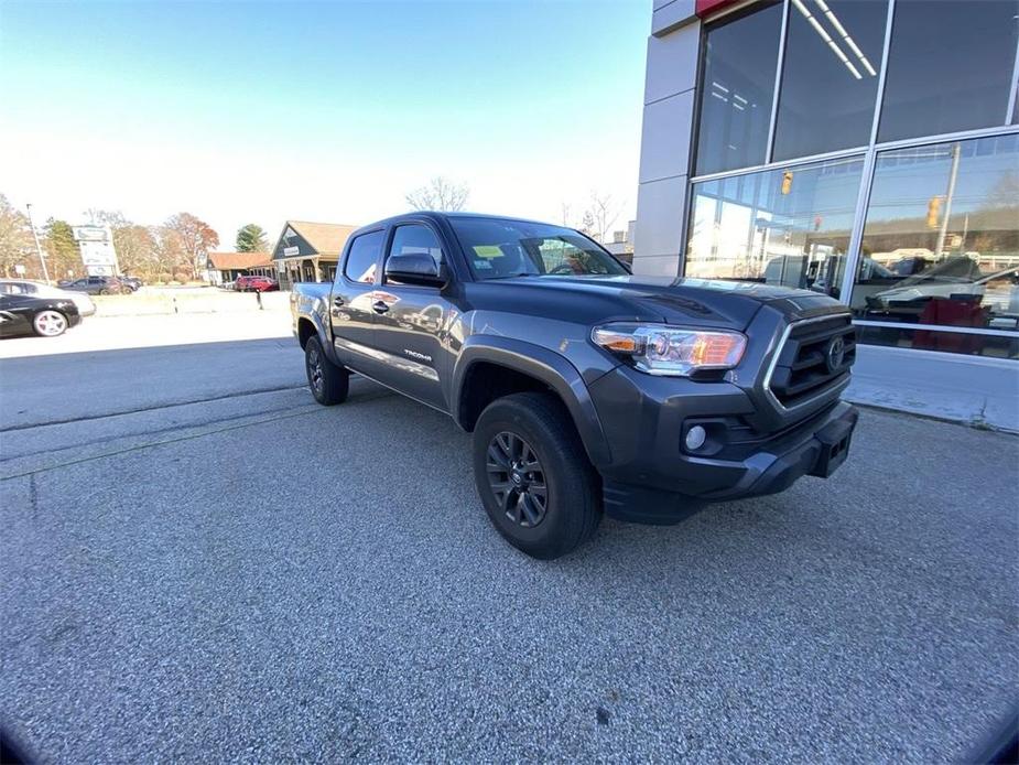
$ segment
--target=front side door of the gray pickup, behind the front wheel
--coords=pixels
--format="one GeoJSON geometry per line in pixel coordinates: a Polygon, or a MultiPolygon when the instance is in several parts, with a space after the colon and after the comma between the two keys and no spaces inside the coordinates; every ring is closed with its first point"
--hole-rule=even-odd
{"type": "MultiPolygon", "coordinates": [[[[386,261],[392,255],[427,254],[436,266],[443,262],[437,234],[423,223],[409,223],[393,229],[386,261]]],[[[376,345],[387,366],[387,385],[424,403],[446,410],[440,384],[444,369],[444,335],[451,304],[438,285],[401,283],[386,274],[376,303],[376,345]]]]}

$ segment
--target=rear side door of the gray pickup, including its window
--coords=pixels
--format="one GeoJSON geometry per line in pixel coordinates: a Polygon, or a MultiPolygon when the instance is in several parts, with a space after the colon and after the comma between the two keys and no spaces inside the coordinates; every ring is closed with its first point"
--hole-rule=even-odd
{"type": "Polygon", "coordinates": [[[329,323],[333,327],[333,347],[345,365],[377,377],[382,369],[379,354],[373,347],[372,330],[379,261],[386,229],[367,231],[347,245],[347,254],[336,272],[329,294],[329,323]]]}

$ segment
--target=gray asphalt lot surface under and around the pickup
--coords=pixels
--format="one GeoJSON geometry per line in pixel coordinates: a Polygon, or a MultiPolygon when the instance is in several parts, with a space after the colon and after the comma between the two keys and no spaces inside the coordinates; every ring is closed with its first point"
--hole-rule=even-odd
{"type": "Polygon", "coordinates": [[[468,435],[289,342],[0,378],[0,714],[56,762],[929,763],[1019,698],[1015,437],[866,411],[827,482],[538,562],[468,435]]]}

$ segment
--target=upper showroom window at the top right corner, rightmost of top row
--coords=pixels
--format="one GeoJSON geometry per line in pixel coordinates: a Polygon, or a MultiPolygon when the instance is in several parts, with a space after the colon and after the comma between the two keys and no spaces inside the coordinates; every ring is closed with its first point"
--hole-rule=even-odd
{"type": "Polygon", "coordinates": [[[1005,125],[1015,0],[899,0],[879,141],[1005,125]]]}

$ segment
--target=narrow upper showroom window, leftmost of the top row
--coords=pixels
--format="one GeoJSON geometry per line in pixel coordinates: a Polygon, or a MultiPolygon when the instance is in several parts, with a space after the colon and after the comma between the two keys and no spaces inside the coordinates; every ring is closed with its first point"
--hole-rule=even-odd
{"type": "Polygon", "coordinates": [[[755,6],[708,29],[698,175],[765,162],[781,29],[781,4],[755,6]]]}

